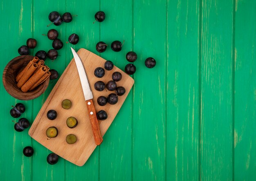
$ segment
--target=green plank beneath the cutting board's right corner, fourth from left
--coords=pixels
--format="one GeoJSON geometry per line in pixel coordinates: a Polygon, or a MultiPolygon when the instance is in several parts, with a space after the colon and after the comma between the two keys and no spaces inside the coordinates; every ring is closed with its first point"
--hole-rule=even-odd
{"type": "MultiPolygon", "coordinates": [[[[108,44],[107,50],[101,53],[101,56],[124,70],[125,65],[129,63],[126,53],[132,49],[132,0],[100,3],[101,11],[106,13],[106,19],[100,23],[100,41],[108,44]],[[121,51],[112,51],[110,45],[114,40],[125,40],[121,51]]],[[[131,180],[132,94],[131,90],[103,138],[99,168],[99,178],[102,180],[131,180]]]]}

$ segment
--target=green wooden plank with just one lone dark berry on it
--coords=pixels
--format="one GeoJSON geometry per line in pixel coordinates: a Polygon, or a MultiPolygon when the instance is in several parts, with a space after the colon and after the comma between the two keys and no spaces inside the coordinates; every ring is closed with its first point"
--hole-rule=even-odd
{"type": "Polygon", "coordinates": [[[134,1],[133,180],[165,180],[166,1],[134,1]],[[157,13],[156,13],[157,12],[157,13]],[[148,69],[146,58],[157,65],[148,69]]]}

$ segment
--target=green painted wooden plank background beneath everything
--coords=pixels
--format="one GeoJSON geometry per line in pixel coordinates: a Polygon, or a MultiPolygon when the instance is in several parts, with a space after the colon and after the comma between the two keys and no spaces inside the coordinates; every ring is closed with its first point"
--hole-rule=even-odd
{"type": "MultiPolygon", "coordinates": [[[[135,85],[83,167],[47,164],[50,151],[28,129],[13,130],[11,105],[24,103],[22,117],[32,122],[57,80],[33,101],[12,98],[1,83],[1,181],[256,180],[255,0],[0,0],[0,9],[2,71],[27,38],[38,40],[33,55],[51,49],[42,34],[52,28],[63,42],[78,34],[72,47],[94,53],[99,41],[125,40],[122,51],[99,54],[121,69],[128,51],[138,54],[135,85]],[[106,20],[93,24],[99,10],[106,20]],[[78,16],[47,27],[51,11],[78,16]],[[144,66],[149,56],[153,69],[144,66]],[[30,158],[22,154],[27,145],[30,158]]],[[[47,65],[61,74],[70,46],[47,65]]]]}

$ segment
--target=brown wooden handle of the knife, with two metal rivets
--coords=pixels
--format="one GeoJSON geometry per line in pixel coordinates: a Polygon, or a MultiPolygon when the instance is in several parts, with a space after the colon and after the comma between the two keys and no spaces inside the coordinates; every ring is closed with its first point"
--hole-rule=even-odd
{"type": "Polygon", "coordinates": [[[99,129],[99,122],[96,116],[96,111],[93,105],[92,99],[85,101],[88,109],[88,114],[90,118],[90,122],[92,125],[92,132],[94,136],[94,141],[96,145],[100,145],[103,141],[103,138],[101,136],[101,130],[99,129]]]}

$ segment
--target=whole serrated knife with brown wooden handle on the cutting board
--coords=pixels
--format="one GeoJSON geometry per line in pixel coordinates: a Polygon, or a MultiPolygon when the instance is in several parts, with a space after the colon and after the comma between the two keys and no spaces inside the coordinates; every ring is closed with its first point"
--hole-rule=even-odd
{"type": "Polygon", "coordinates": [[[83,66],[83,62],[81,60],[81,58],[79,57],[79,55],[76,53],[76,51],[71,47],[74,59],[75,59],[75,63],[76,63],[76,68],[78,70],[79,73],[79,78],[81,81],[81,85],[83,88],[83,95],[85,98],[85,103],[88,109],[88,115],[90,118],[90,122],[92,125],[92,132],[93,132],[93,136],[94,136],[94,141],[96,143],[96,145],[100,145],[101,142],[103,141],[103,138],[101,136],[101,130],[99,129],[99,122],[97,120],[97,116],[96,116],[96,111],[93,105],[93,101],[92,101],[92,91],[90,88],[90,84],[85,72],[85,68],[83,66]]]}

